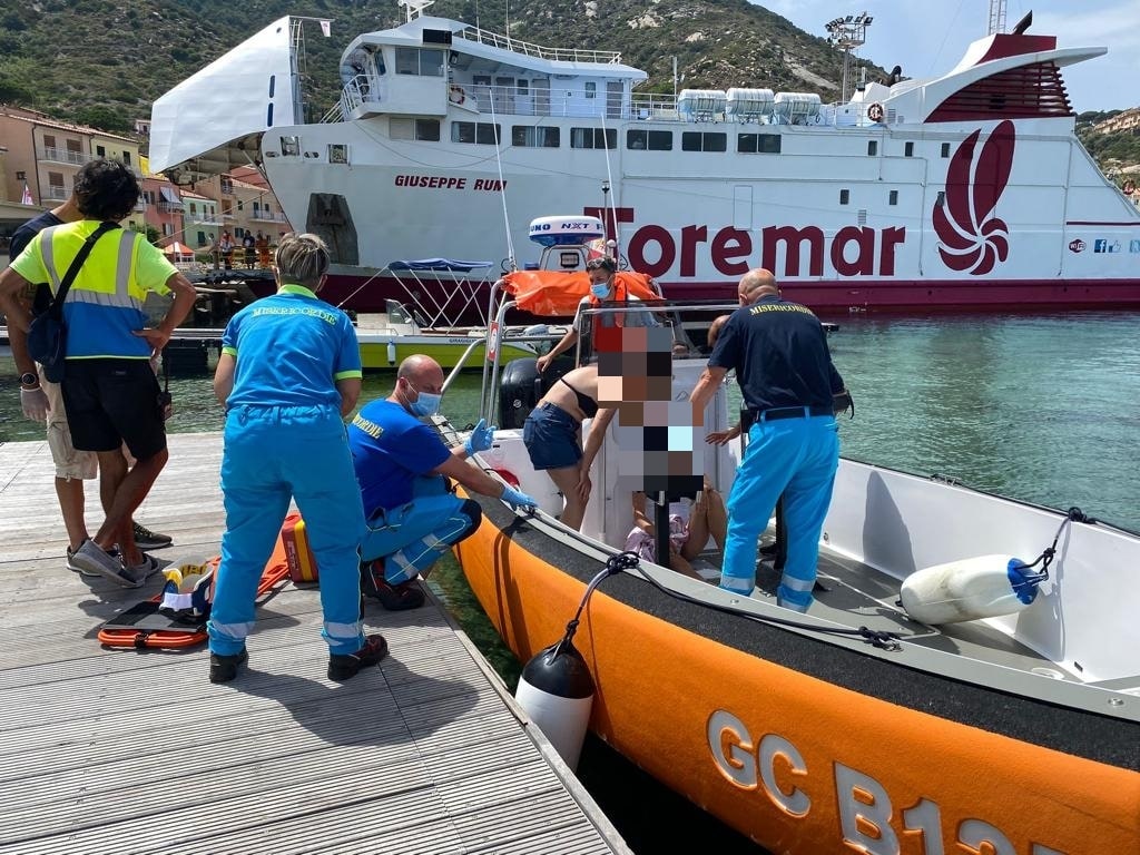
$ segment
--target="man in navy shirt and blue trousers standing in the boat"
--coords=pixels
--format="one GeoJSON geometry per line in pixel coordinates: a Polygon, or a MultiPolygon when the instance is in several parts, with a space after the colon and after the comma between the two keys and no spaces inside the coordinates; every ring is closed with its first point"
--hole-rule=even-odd
{"type": "Polygon", "coordinates": [[[807,611],[820,532],[839,465],[832,400],[844,391],[844,381],[831,363],[819,318],[806,307],[782,300],[771,272],[747,272],[738,295],[741,308],[725,323],[691,398],[693,417],[700,420],[734,368],[744,399],[742,420],[751,423],[748,454],[728,496],[720,587],[751,594],[756,544],[783,494],[788,561],[776,602],[807,611]]]}

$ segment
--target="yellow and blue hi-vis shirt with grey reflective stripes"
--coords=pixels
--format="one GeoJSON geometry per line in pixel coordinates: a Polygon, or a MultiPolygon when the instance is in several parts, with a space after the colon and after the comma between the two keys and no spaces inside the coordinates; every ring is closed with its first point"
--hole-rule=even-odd
{"type": "MultiPolygon", "coordinates": [[[[47,282],[52,293],[96,220],[43,229],[13,263],[28,282],[47,282]]],[[[150,345],[135,332],[146,326],[147,293],[169,294],[178,269],[141,235],[114,229],[95,244],[64,301],[68,359],[149,359],[150,345]]]]}

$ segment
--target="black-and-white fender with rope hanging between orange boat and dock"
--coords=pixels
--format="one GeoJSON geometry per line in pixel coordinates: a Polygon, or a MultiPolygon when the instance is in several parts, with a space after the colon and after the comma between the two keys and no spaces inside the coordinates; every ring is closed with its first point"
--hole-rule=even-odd
{"type": "Polygon", "coordinates": [[[619,553],[606,561],[605,569],[586,587],[562,640],[531,657],[519,677],[515,700],[571,769],[578,766],[594,706],[594,677],[586,659],[575,648],[573,636],[594,588],[606,576],[636,567],[637,561],[637,555],[632,552],[619,553]]]}

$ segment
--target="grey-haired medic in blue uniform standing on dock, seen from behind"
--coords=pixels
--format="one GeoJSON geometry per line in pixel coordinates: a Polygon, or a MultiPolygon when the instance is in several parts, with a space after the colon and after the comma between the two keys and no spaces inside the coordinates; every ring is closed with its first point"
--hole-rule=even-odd
{"type": "Polygon", "coordinates": [[[226,532],[209,622],[212,683],[246,660],[258,583],[293,498],[320,571],[329,679],[388,652],[360,624],[364,510],[342,421],[360,394],[360,349],[349,317],[317,299],[328,263],[316,235],[282,238],[277,293],[235,315],[222,336],[214,393],[226,407],[226,532]]]}

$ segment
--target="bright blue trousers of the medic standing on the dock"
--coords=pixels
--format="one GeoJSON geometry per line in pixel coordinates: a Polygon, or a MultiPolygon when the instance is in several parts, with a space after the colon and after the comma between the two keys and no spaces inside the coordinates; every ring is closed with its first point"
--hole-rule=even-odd
{"type": "Polygon", "coordinates": [[[254,621],[258,583],[295,498],[320,568],[321,635],[331,653],[364,646],[360,489],[335,407],[239,406],[226,416],[226,532],[209,622],[210,650],[233,656],[254,621]]]}

